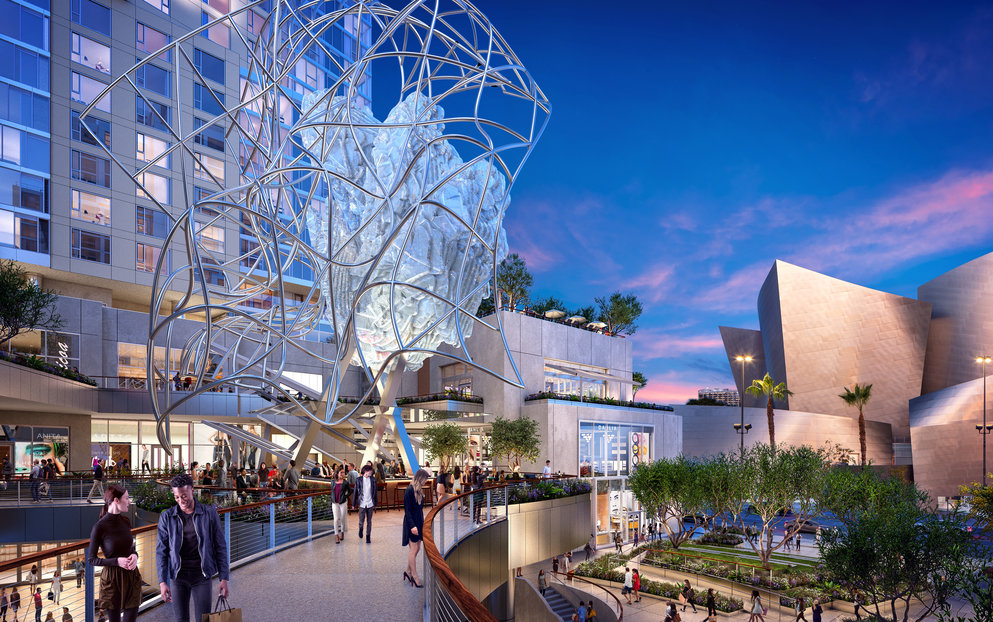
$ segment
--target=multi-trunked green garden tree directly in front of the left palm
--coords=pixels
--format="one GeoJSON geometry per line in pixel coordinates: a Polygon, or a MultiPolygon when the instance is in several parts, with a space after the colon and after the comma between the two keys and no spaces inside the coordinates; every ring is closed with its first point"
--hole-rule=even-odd
{"type": "MultiPolygon", "coordinates": [[[[779,451],[760,443],[745,451],[741,466],[731,473],[740,482],[728,485],[728,493],[738,495],[728,501],[744,508],[760,521],[757,538],[748,540],[764,568],[770,568],[772,554],[783,542],[794,537],[807,521],[820,516],[821,499],[827,474],[824,455],[810,446],[786,447],[779,451]],[[792,512],[791,522],[783,524],[784,539],[773,543],[773,531],[782,522],[786,509],[792,512]]],[[[744,530],[750,525],[745,512],[732,518],[744,530]]]]}

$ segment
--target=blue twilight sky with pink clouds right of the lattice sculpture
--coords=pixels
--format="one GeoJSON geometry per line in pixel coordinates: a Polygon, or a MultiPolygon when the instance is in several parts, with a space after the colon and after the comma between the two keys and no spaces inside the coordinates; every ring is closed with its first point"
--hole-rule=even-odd
{"type": "Polygon", "coordinates": [[[915,296],[993,250],[993,5],[477,6],[553,105],[511,251],[536,296],[639,296],[639,398],[733,384],[775,259],[915,296]]]}

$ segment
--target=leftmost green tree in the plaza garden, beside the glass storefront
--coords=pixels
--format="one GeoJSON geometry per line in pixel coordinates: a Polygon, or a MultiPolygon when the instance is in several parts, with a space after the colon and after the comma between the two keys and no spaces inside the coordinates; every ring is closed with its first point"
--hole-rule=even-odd
{"type": "Polygon", "coordinates": [[[631,492],[649,520],[661,525],[673,549],[692,538],[706,521],[703,470],[701,462],[679,456],[636,464],[628,477],[631,492]],[[692,517],[692,523],[684,517],[692,517]]]}

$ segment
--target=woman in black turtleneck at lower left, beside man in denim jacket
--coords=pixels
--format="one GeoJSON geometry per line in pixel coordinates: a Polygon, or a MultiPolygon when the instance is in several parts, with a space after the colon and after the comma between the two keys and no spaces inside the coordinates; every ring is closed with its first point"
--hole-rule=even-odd
{"type": "Polygon", "coordinates": [[[138,552],[131,522],[124,516],[128,506],[128,491],[113,484],[103,495],[100,520],[90,534],[86,558],[94,566],[103,566],[100,573],[100,594],[97,608],[105,609],[110,622],[134,622],[141,604],[141,573],[138,572],[138,552]],[[103,549],[103,557],[97,552],[103,549]]]}

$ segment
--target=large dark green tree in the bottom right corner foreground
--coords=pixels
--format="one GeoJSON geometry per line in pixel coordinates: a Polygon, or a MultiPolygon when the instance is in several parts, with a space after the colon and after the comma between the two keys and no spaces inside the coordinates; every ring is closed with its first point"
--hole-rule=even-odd
{"type": "Polygon", "coordinates": [[[971,554],[961,519],[939,515],[913,483],[865,467],[833,469],[826,489],[824,504],[842,527],[821,536],[825,568],[878,618],[906,622],[912,601],[922,605],[918,621],[947,610],[953,584],[942,577],[961,576],[971,554]]]}

